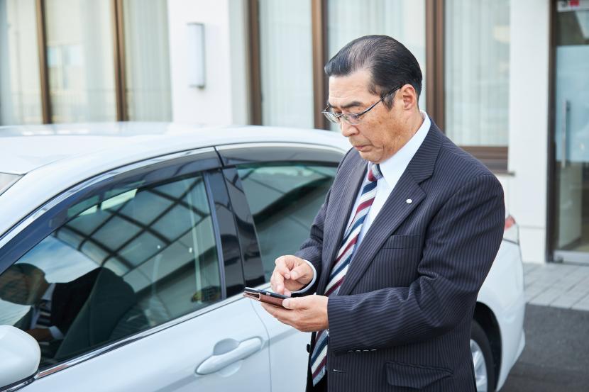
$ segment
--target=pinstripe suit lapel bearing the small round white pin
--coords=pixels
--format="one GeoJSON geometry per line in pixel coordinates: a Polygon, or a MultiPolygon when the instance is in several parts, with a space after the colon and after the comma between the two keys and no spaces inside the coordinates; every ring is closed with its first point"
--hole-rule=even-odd
{"type": "MultiPolygon", "coordinates": [[[[434,121],[431,121],[431,127],[424,142],[409,162],[385,205],[382,206],[374,222],[365,233],[362,242],[354,251],[346,278],[343,279],[343,284],[338,291],[339,296],[345,296],[352,291],[387,237],[397,230],[399,225],[426,197],[426,193],[419,183],[433,174],[442,138],[444,136],[441,135],[441,131],[434,121]],[[410,202],[408,202],[409,199],[410,202]]],[[[349,213],[346,218],[348,216],[349,213]]]]}

